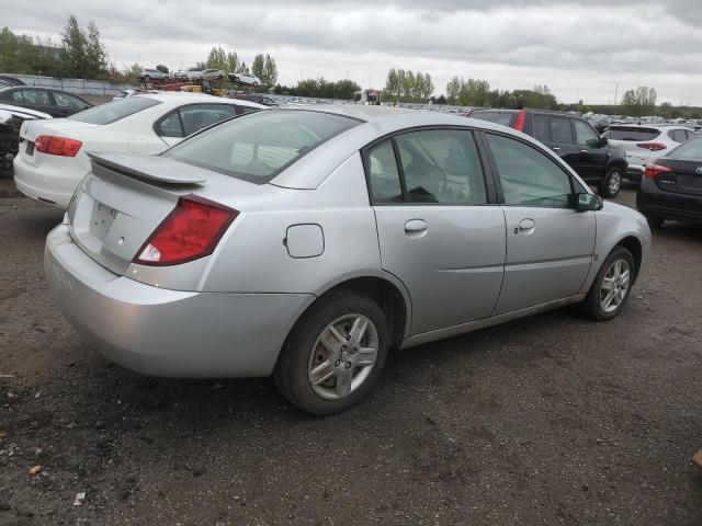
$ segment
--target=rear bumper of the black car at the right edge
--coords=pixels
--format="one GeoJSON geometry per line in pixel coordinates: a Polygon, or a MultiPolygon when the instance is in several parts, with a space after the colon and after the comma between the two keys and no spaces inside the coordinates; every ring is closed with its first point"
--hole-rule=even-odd
{"type": "Polygon", "coordinates": [[[702,196],[666,192],[647,178],[636,194],[636,209],[664,219],[702,222],[702,196]]]}

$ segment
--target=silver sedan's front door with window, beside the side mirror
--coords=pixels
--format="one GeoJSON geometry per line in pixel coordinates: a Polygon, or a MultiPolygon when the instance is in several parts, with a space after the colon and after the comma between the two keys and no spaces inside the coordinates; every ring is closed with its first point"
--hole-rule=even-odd
{"type": "Polygon", "coordinates": [[[485,134],[507,225],[505,284],[496,315],[578,294],[595,253],[593,211],[575,209],[585,192],[535,145],[485,134]]]}

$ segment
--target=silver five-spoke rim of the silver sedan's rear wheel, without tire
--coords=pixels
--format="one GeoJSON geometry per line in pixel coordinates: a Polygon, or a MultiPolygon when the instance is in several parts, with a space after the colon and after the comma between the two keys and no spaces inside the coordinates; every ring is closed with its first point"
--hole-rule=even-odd
{"type": "Polygon", "coordinates": [[[348,397],[371,375],[378,346],[377,329],[365,316],[333,320],[312,347],[307,378],[313,391],[326,400],[348,397]]]}

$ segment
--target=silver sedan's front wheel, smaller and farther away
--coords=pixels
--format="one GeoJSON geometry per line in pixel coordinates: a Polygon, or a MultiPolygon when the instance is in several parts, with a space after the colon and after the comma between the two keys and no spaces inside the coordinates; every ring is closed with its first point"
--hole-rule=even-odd
{"type": "Polygon", "coordinates": [[[597,321],[611,320],[624,308],[634,284],[632,253],[616,247],[607,258],[584,301],[585,312],[597,321]]]}

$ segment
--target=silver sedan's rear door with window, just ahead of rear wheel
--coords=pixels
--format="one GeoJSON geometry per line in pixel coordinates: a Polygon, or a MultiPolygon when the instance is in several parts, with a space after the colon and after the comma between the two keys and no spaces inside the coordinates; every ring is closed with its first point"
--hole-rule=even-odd
{"type": "Polygon", "coordinates": [[[502,285],[505,216],[488,198],[473,133],[405,133],[364,159],[383,270],[407,287],[410,333],[488,317],[502,285]]]}

